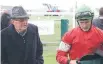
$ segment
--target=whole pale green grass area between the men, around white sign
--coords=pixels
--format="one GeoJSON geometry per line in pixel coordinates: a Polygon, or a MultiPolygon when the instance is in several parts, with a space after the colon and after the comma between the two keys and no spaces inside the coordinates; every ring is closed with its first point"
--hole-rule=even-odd
{"type": "Polygon", "coordinates": [[[69,29],[72,28],[72,16],[31,16],[31,20],[37,21],[54,21],[54,34],[53,35],[40,35],[40,39],[42,42],[52,42],[53,44],[49,43],[49,45],[44,44],[43,46],[43,57],[44,57],[44,64],[57,64],[56,62],[56,49],[59,46],[61,40],[61,19],[68,19],[69,20],[69,29]],[[39,19],[38,19],[39,18],[39,19]]]}

